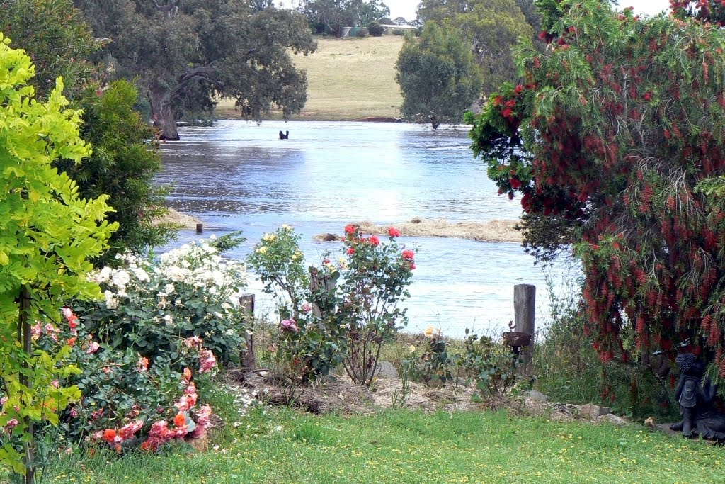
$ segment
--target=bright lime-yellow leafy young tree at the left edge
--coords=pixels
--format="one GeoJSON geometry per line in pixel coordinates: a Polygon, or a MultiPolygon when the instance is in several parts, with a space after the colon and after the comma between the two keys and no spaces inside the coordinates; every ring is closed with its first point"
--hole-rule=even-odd
{"type": "MultiPolygon", "coordinates": [[[[32,480],[33,423],[57,424],[57,414],[77,389],[53,398],[51,380],[77,371],[33,347],[30,321],[56,319],[62,301],[91,300],[99,287],[86,280],[88,258],[101,254],[117,224],[104,220],[107,196],[80,200],[78,187],[51,163],[76,163],[90,154],[78,134],[80,112],[67,110],[62,79],[46,103],[33,99],[30,58],[9,48],[0,33],[0,378],[4,402],[0,424],[14,419],[15,442],[0,448],[0,462],[32,480]],[[20,341],[16,341],[19,339],[20,341]],[[27,470],[26,470],[27,466],[27,470]]],[[[57,393],[57,391],[55,392],[57,393]]]]}

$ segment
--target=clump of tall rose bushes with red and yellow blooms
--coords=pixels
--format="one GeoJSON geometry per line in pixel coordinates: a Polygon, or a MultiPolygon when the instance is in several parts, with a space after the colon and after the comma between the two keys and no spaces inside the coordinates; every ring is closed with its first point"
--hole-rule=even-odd
{"type": "Polygon", "coordinates": [[[345,233],[344,256],[336,264],[325,257],[308,271],[289,226],[265,234],[249,256],[265,292],[279,303],[273,349],[289,380],[295,380],[289,372],[310,379],[341,363],[353,381],[370,385],[382,345],[405,326],[398,305],[408,296],[415,252],[401,250],[396,229],[386,244],[354,225],[345,233]]]}

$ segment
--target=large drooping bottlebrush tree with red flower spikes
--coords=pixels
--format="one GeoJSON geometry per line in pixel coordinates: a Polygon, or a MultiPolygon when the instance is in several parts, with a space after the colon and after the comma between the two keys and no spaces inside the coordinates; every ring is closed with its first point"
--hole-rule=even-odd
{"type": "Polygon", "coordinates": [[[691,351],[725,378],[725,210],[701,189],[725,174],[725,32],[607,1],[537,5],[547,49],[521,44],[523,83],[468,115],[474,154],[521,196],[541,258],[573,245],[602,361],[691,351]]]}

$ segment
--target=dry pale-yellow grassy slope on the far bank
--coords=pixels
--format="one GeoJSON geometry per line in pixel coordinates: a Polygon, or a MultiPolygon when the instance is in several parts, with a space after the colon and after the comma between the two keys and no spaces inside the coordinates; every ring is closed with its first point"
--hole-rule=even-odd
{"type": "MultiPolygon", "coordinates": [[[[291,119],[357,120],[393,118],[402,103],[395,82],[395,61],[401,36],[318,38],[318,51],[293,56],[307,70],[308,99],[300,115],[291,119]]],[[[233,102],[217,107],[220,118],[239,118],[233,102]]]]}

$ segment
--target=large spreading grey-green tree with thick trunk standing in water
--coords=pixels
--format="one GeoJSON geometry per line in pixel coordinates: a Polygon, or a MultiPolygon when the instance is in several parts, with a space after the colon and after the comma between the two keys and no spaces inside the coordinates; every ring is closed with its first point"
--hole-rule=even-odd
{"type": "Polygon", "coordinates": [[[154,123],[178,139],[174,107],[235,99],[260,119],[272,107],[287,116],[307,100],[307,76],[289,52],[316,48],[305,17],[266,2],[236,0],[76,0],[96,36],[109,38],[111,69],[138,78],[154,123]]]}

